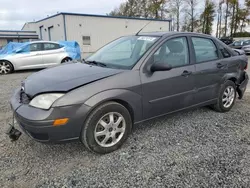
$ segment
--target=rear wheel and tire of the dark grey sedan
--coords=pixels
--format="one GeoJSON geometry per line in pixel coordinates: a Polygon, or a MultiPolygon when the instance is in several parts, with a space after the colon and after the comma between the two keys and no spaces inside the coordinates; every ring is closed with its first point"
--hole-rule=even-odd
{"type": "Polygon", "coordinates": [[[221,86],[217,103],[213,105],[212,108],[217,112],[228,112],[234,106],[236,95],[235,83],[231,80],[227,80],[221,86]],[[226,93],[231,94],[227,96],[226,93]]]}

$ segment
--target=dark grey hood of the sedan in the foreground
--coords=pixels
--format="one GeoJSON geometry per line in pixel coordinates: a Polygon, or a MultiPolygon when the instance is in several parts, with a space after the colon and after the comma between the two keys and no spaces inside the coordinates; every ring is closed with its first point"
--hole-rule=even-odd
{"type": "Polygon", "coordinates": [[[83,63],[63,64],[29,76],[24,81],[24,91],[30,97],[39,93],[67,92],[123,71],[83,63]]]}

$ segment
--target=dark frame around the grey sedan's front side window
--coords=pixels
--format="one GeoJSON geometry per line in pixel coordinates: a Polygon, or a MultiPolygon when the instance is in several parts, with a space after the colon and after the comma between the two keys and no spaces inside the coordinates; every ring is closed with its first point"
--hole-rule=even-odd
{"type": "MultiPolygon", "coordinates": [[[[175,67],[172,67],[172,69],[175,69],[175,68],[180,68],[180,67],[186,67],[186,66],[190,66],[192,65],[191,63],[191,50],[190,50],[190,44],[189,44],[189,40],[188,40],[188,36],[184,36],[184,35],[181,35],[181,36],[173,36],[173,37],[169,37],[169,38],[166,38],[165,40],[163,40],[159,46],[157,46],[157,48],[154,48],[154,50],[152,51],[152,54],[150,55],[150,57],[148,58],[147,60],[147,63],[145,64],[145,67],[147,67],[149,64],[150,64],[150,61],[152,60],[151,58],[154,56],[154,54],[162,47],[162,45],[169,41],[169,40],[172,40],[172,39],[176,39],[176,38],[185,38],[186,39],[186,44],[187,44],[187,52],[188,52],[188,62],[187,64],[185,65],[180,65],[180,66],[175,66],[175,67]]],[[[154,64],[154,62],[152,63],[152,65],[154,64]]],[[[170,70],[171,71],[171,70],[170,70]]]]}

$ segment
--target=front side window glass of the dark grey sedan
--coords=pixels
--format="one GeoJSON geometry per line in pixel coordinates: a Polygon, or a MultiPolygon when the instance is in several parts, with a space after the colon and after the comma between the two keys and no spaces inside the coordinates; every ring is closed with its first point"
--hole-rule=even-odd
{"type": "Polygon", "coordinates": [[[165,63],[172,67],[189,64],[189,51],[186,37],[169,39],[155,52],[154,63],[165,63]]]}

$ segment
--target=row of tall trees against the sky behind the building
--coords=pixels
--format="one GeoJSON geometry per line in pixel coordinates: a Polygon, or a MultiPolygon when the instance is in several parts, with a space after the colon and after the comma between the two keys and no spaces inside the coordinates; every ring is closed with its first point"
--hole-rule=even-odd
{"type": "Polygon", "coordinates": [[[109,15],[171,18],[175,31],[212,34],[216,27],[216,37],[233,37],[250,24],[250,0],[126,0],[109,15]]]}

